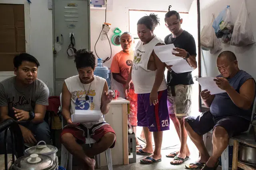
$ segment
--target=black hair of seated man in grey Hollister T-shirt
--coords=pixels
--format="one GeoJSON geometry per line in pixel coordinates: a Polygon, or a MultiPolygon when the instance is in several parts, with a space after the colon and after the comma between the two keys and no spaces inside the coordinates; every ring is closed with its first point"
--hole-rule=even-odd
{"type": "Polygon", "coordinates": [[[19,55],[16,55],[13,59],[14,67],[18,68],[22,64],[23,61],[29,61],[31,63],[35,63],[36,67],[40,66],[38,60],[34,56],[32,56],[28,53],[20,53],[19,55]]]}

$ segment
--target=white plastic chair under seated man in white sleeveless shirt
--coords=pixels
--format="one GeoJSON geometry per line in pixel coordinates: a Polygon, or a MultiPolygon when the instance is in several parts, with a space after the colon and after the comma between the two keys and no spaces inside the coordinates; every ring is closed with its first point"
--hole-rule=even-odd
{"type": "MultiPolygon", "coordinates": [[[[60,109],[62,109],[62,94],[60,94],[60,109]]],[[[64,118],[62,117],[62,129],[66,125],[66,122],[64,118]]],[[[86,138],[85,145],[96,143],[96,141],[92,138],[90,140],[86,138]]],[[[110,148],[105,151],[106,160],[108,164],[108,170],[113,170],[112,166],[112,156],[111,156],[111,150],[110,148]]],[[[61,160],[60,164],[62,167],[66,168],[66,170],[72,170],[72,160],[73,156],[68,152],[68,150],[64,147],[64,145],[61,146],[61,160]]],[[[96,160],[96,169],[100,169],[100,154],[95,156],[96,160]]]]}

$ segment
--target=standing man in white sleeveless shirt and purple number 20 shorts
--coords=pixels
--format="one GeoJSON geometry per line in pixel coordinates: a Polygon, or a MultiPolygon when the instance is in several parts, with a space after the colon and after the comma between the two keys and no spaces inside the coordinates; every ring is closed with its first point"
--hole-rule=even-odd
{"type": "Polygon", "coordinates": [[[129,92],[130,82],[138,94],[138,126],[142,126],[146,137],[146,147],[137,154],[149,155],[140,160],[143,164],[152,164],[162,160],[161,146],[163,131],[169,130],[170,119],[167,107],[167,83],[164,77],[165,63],[154,53],[156,45],[164,41],[154,35],[159,24],[155,14],[142,17],[137,23],[140,41],[136,46],[132,70],[125,89],[129,92]],[[154,134],[155,150],[152,146],[154,134]]]}

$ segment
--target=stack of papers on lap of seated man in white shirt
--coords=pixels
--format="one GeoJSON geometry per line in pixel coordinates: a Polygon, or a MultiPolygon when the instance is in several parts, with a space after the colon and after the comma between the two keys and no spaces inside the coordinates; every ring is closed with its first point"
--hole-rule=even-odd
{"type": "Polygon", "coordinates": [[[100,110],[75,110],[75,114],[71,115],[71,119],[73,123],[98,122],[101,114],[100,110]]]}

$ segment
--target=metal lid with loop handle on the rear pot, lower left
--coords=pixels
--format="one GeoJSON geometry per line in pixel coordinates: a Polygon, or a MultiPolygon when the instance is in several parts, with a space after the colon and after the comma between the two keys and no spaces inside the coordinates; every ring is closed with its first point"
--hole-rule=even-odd
{"type": "Polygon", "coordinates": [[[44,154],[44,153],[53,152],[54,150],[56,150],[56,147],[52,145],[46,145],[44,141],[40,141],[37,143],[36,146],[26,149],[26,152],[29,154],[34,154],[34,153],[44,154]],[[39,143],[42,143],[42,142],[44,143],[44,145],[39,145],[39,143]]]}

